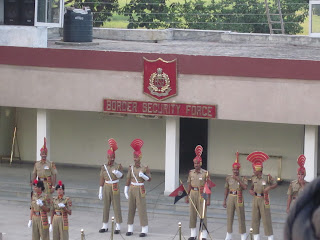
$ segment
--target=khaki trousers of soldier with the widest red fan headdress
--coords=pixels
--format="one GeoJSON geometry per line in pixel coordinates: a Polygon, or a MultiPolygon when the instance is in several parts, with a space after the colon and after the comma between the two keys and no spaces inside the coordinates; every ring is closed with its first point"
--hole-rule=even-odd
{"type": "Polygon", "coordinates": [[[260,219],[262,218],[264,234],[273,235],[270,207],[266,208],[263,197],[253,197],[252,201],[252,229],[253,234],[259,234],[260,219]]]}

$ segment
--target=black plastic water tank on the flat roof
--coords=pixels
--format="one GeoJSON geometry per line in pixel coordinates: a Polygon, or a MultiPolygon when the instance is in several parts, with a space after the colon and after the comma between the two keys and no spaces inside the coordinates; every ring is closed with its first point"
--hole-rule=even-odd
{"type": "Polygon", "coordinates": [[[64,42],[92,42],[92,14],[90,9],[67,9],[64,14],[64,42]]]}

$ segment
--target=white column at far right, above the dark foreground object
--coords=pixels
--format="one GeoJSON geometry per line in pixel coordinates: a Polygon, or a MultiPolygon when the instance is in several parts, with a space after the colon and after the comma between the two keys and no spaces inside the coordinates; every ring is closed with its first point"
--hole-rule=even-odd
{"type": "Polygon", "coordinates": [[[305,125],[304,155],[306,156],[306,181],[317,177],[318,126],[305,125]]]}

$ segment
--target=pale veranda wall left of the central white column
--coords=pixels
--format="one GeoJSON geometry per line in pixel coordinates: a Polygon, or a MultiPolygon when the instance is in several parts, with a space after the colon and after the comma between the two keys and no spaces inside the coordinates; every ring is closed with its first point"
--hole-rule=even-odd
{"type": "MultiPolygon", "coordinates": [[[[135,116],[111,117],[98,112],[48,111],[50,116],[51,160],[57,163],[98,166],[106,162],[107,140],[114,138],[119,149],[116,159],[124,167],[133,162],[130,143],[141,138],[142,163],[164,170],[165,119],[141,119],[135,116]]],[[[19,109],[19,142],[22,159],[39,159],[36,149],[36,110],[19,109]]]]}

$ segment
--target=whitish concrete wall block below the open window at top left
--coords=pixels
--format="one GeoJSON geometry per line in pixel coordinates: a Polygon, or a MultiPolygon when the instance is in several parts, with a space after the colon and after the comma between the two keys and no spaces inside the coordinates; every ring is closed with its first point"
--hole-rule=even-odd
{"type": "Polygon", "coordinates": [[[0,25],[0,46],[46,48],[47,35],[46,27],[0,25]]]}

